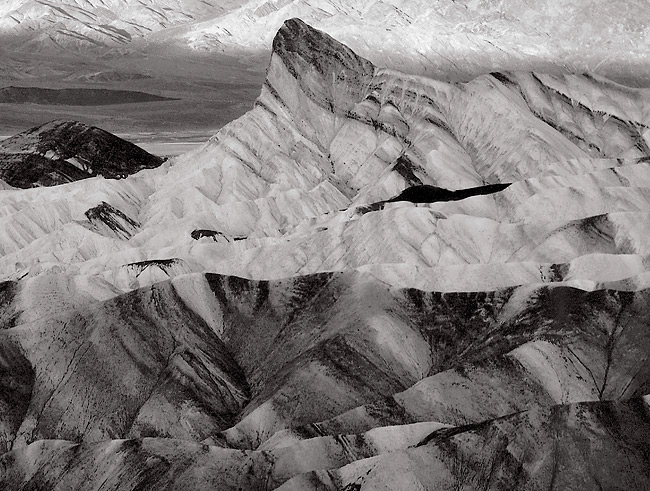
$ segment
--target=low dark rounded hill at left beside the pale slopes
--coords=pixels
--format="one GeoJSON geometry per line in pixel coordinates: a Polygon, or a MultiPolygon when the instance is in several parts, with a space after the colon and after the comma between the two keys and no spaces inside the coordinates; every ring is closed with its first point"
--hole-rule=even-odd
{"type": "Polygon", "coordinates": [[[92,176],[126,177],[162,163],[140,147],[77,121],[52,121],[0,141],[0,179],[28,188],[92,176]]]}

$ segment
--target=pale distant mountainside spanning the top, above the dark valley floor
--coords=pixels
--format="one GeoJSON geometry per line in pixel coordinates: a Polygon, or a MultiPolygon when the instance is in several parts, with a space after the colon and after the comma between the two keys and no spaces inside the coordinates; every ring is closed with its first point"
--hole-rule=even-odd
{"type": "Polygon", "coordinates": [[[466,80],[543,68],[650,84],[645,0],[18,0],[0,6],[0,38],[26,53],[266,59],[276,31],[294,17],[376,64],[411,73],[466,80]]]}

